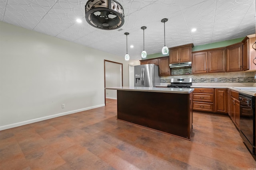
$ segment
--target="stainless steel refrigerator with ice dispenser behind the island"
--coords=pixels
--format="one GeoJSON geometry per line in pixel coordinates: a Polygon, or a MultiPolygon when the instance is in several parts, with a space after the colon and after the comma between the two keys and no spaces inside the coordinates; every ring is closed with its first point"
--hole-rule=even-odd
{"type": "Polygon", "coordinates": [[[134,66],[134,87],[155,87],[160,85],[158,66],[143,64],[134,66]]]}

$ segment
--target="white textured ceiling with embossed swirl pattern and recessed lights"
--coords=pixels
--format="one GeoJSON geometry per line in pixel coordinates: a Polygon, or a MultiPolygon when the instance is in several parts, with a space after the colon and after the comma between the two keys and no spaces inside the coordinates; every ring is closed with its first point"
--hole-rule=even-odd
{"type": "Polygon", "coordinates": [[[18,25],[120,57],[141,59],[143,30],[145,50],[160,53],[164,46],[202,45],[255,33],[255,0],[117,0],[124,8],[122,30],[102,30],[84,16],[87,0],[0,0],[0,21],[18,25]],[[76,19],[82,19],[77,23],[76,19]],[[196,28],[196,32],[191,32],[196,28]],[[134,48],[130,48],[134,45],[134,48]]]}

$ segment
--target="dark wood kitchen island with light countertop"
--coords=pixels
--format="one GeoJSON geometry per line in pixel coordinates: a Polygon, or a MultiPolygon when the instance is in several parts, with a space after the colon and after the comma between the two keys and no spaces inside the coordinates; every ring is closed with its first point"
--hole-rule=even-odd
{"type": "Polygon", "coordinates": [[[117,119],[183,139],[192,134],[193,88],[112,87],[117,119]]]}

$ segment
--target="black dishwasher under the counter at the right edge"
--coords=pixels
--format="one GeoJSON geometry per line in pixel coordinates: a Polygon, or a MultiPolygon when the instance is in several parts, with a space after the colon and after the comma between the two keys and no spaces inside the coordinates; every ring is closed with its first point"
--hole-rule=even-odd
{"type": "Polygon", "coordinates": [[[255,159],[255,97],[239,93],[240,136],[255,159]]]}

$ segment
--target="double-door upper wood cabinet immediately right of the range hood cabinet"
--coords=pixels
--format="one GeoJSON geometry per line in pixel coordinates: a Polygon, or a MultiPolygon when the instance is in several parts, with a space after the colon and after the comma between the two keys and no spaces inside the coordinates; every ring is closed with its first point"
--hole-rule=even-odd
{"type": "Polygon", "coordinates": [[[225,72],[226,49],[195,52],[192,55],[192,72],[225,72]]]}

